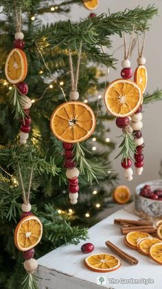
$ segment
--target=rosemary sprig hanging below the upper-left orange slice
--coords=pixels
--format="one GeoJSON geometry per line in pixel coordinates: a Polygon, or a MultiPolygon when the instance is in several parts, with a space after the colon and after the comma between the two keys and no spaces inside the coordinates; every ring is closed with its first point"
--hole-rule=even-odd
{"type": "Polygon", "coordinates": [[[22,96],[23,94],[20,94],[20,92],[18,91],[18,89],[16,88],[16,86],[14,86],[10,92],[8,92],[7,94],[8,96],[10,96],[10,103],[11,105],[14,107],[13,111],[14,112],[14,118],[16,119],[20,119],[20,118],[25,118],[25,112],[23,110],[22,104],[23,104],[23,100],[22,100],[22,96]]]}

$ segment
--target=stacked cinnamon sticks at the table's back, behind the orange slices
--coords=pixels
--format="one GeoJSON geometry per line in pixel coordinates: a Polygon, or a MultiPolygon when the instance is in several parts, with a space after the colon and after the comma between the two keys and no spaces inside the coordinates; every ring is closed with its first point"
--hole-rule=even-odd
{"type": "Polygon", "coordinates": [[[126,235],[132,231],[141,231],[145,233],[156,233],[157,229],[154,228],[152,222],[143,220],[125,220],[125,219],[115,219],[114,224],[122,225],[121,231],[123,235],[126,235]]]}

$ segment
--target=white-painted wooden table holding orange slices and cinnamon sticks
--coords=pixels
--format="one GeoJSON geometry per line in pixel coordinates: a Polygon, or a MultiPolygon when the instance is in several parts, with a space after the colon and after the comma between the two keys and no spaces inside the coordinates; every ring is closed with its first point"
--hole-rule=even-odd
{"type": "Polygon", "coordinates": [[[113,220],[119,218],[138,220],[139,217],[133,213],[133,206],[130,204],[91,227],[90,239],[87,242],[94,244],[94,254],[113,253],[104,244],[108,239],[130,255],[137,257],[139,264],[131,266],[122,260],[121,268],[114,272],[93,272],[84,266],[85,257],[91,254],[83,254],[80,250],[85,241],[77,246],[61,246],[38,259],[39,289],[99,289],[101,285],[97,285],[97,279],[101,276],[106,279],[106,284],[102,284],[102,288],[105,289],[161,289],[162,266],[136,250],[126,247],[120,226],[113,224],[113,220]]]}

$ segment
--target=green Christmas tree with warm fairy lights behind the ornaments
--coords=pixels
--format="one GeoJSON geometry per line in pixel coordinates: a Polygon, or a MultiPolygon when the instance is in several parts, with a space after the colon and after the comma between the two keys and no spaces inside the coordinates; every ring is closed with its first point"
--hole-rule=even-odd
{"type": "MultiPolygon", "coordinates": [[[[104,122],[113,120],[103,109],[101,94],[105,81],[100,81],[104,70],[114,67],[116,59],[111,56],[111,36],[122,32],[131,34],[145,32],[149,21],[157,14],[154,6],[135,8],[114,14],[91,15],[87,19],[72,23],[68,12],[73,3],[83,5],[82,0],[71,1],[1,0],[5,17],[0,21],[0,216],[1,216],[1,288],[22,288],[24,270],[21,253],[14,247],[13,231],[21,213],[21,178],[25,186],[33,169],[32,211],[43,222],[43,239],[37,246],[36,257],[65,243],[78,244],[86,239],[87,229],[97,222],[97,213],[111,202],[108,197],[117,175],[112,173],[109,155],[115,144],[108,139],[104,122]],[[59,1],[58,1],[59,2],[59,1]],[[26,145],[19,145],[19,109],[14,107],[14,87],[5,78],[6,58],[12,49],[16,32],[16,10],[23,12],[25,54],[28,74],[25,82],[29,86],[28,96],[32,99],[30,116],[32,133],[26,145]],[[43,25],[41,17],[47,13],[67,14],[67,21],[43,25]],[[80,47],[82,46],[82,50],[80,47]],[[103,47],[108,48],[104,53],[103,47]],[[80,198],[75,206],[69,202],[65,178],[62,143],[58,141],[49,126],[52,112],[69,99],[71,91],[69,51],[73,63],[80,58],[78,91],[80,99],[88,103],[95,112],[97,125],[93,136],[74,149],[80,169],[80,198]],[[17,117],[18,116],[18,117],[17,117]],[[79,226],[78,226],[79,225],[79,226]],[[8,270],[6,270],[8,268],[8,270]]],[[[147,94],[145,103],[161,99],[161,91],[147,94]]],[[[28,287],[27,287],[28,288],[28,287]]]]}

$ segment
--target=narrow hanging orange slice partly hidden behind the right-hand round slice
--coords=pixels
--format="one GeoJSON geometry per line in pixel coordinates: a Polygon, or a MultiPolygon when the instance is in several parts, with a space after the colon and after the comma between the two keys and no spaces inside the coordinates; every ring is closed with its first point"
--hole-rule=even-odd
{"type": "Polygon", "coordinates": [[[139,85],[139,87],[141,88],[141,92],[143,94],[146,90],[146,86],[148,83],[148,72],[144,65],[139,65],[135,69],[134,81],[135,83],[137,83],[137,85],[139,85]]]}

